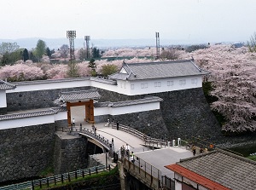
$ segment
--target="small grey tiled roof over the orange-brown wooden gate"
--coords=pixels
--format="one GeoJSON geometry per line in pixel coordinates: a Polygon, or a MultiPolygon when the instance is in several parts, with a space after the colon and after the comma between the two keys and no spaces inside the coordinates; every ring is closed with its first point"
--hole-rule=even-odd
{"type": "Polygon", "coordinates": [[[61,92],[58,101],[88,101],[90,99],[99,99],[100,97],[101,95],[99,95],[96,89],[89,89],[72,92],[61,92]]]}

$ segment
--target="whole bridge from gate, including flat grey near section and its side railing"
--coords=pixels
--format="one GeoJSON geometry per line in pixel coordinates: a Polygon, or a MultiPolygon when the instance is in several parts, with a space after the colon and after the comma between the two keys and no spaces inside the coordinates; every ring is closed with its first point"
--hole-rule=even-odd
{"type": "MultiPolygon", "coordinates": [[[[175,164],[181,158],[189,158],[193,153],[188,147],[182,147],[181,141],[173,144],[174,141],[152,138],[129,126],[119,124],[119,130],[116,124],[94,124],[96,133],[91,124],[83,124],[80,127],[73,128],[76,135],[84,135],[88,141],[102,147],[103,156],[98,155],[97,159],[105,164],[105,153],[115,152],[119,155],[119,171],[121,184],[125,187],[127,184],[126,176],[133,176],[137,181],[151,189],[174,189],[174,174],[166,169],[166,165],[175,164]],[[120,147],[128,144],[130,152],[135,154],[135,161],[131,162],[130,156],[121,155],[120,147]]],[[[107,163],[106,163],[107,164],[107,163]]],[[[134,183],[134,182],[132,182],[134,183]]],[[[136,183],[136,182],[135,182],[136,183]]]]}

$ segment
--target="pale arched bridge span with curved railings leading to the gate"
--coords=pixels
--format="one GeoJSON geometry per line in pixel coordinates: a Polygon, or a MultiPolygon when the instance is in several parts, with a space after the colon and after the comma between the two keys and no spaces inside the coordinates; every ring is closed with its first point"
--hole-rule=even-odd
{"type": "Polygon", "coordinates": [[[82,124],[82,126],[74,127],[72,133],[86,136],[88,141],[101,147],[103,153],[110,150],[119,153],[120,147],[125,147],[126,144],[129,145],[130,152],[133,153],[171,146],[170,141],[152,138],[123,124],[119,124],[119,130],[117,130],[116,124],[99,123],[94,126],[96,132],[92,129],[92,124],[82,124]]]}

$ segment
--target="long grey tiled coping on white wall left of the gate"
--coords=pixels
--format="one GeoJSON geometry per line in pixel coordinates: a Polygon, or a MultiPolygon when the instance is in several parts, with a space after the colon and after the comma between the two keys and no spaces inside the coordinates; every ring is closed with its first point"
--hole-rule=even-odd
{"type": "Polygon", "coordinates": [[[54,109],[45,109],[45,110],[37,110],[37,111],[29,111],[29,112],[19,112],[19,113],[12,113],[6,115],[0,115],[0,121],[15,119],[15,118],[32,118],[44,115],[52,115],[55,114],[57,111],[54,109]]]}

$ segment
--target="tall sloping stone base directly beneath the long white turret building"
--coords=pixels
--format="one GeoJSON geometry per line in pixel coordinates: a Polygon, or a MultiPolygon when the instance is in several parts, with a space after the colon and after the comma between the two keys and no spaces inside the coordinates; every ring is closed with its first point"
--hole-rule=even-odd
{"type": "Polygon", "coordinates": [[[201,88],[155,94],[172,139],[200,137],[208,141],[222,135],[201,88]]]}

